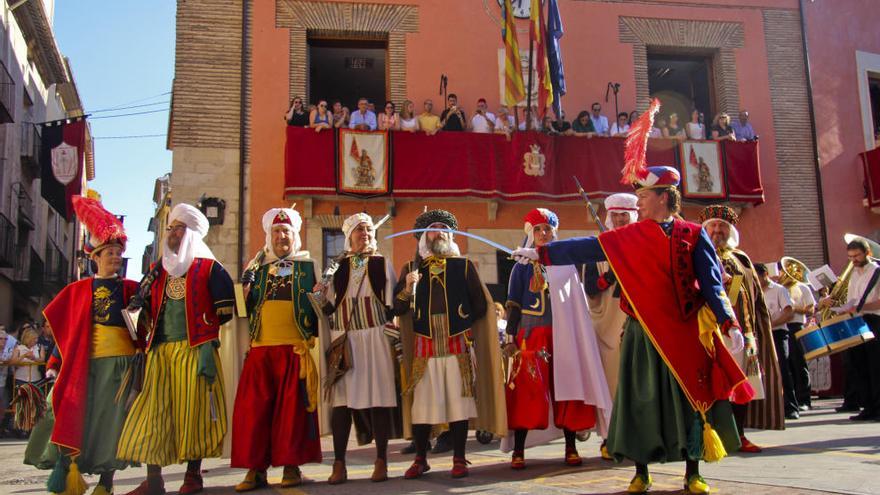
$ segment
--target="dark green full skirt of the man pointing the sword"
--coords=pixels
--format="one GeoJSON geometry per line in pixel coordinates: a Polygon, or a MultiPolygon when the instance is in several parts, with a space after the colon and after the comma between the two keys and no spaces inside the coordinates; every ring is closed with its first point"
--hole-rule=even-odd
{"type": "MultiPolygon", "coordinates": [[[[739,449],[739,434],[729,401],[717,401],[706,412],[706,418],[728,452],[739,449]]],[[[691,407],[675,376],[633,318],[627,319],[624,326],[620,377],[609,430],[608,451],[618,462],[700,460],[688,454],[700,450],[700,414],[691,407]],[[700,431],[692,432],[693,428],[700,431]],[[690,433],[694,438],[688,449],[690,433]]]]}

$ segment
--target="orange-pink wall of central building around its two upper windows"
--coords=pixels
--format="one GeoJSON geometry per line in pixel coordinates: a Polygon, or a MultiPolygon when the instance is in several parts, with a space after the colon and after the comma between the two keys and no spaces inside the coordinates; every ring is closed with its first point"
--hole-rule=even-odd
{"type": "MultiPolygon", "coordinates": [[[[499,105],[497,50],[502,47],[496,0],[412,0],[379,3],[415,4],[419,7],[419,32],[407,35],[407,94],[421,108],[425,98],[435,100],[440,73],[449,76],[449,91],[471,114],[475,102],[485,97],[490,107],[499,105]],[[485,5],[485,7],[484,7],[485,5]],[[494,19],[494,20],[493,20],[494,19]]],[[[761,135],[761,164],[767,202],[742,214],[742,246],[759,261],[783,255],[775,133],[768,88],[768,71],[761,10],[756,6],[796,9],[796,0],[744,0],[732,7],[721,0],[679,0],[674,6],[635,5],[560,0],[566,34],[562,53],[568,83],[563,99],[569,118],[600,101],[613,120],[613,100],[605,103],[609,81],[620,82],[621,111],[635,107],[632,47],[618,40],[618,16],[740,22],[745,46],[736,51],[741,105],[748,108],[761,135]],[[693,4],[684,6],[684,4],[693,4]],[[768,236],[768,232],[771,233],[768,236]],[[760,236],[760,238],[759,238],[760,236]]],[[[253,36],[253,104],[251,113],[251,246],[261,243],[260,213],[283,204],[284,126],[281,115],[288,103],[288,51],[286,29],[275,28],[275,2],[255,2],[253,36]],[[256,244],[255,244],[256,243],[256,244]]],[[[528,21],[517,21],[521,48],[528,43],[528,21]]],[[[343,213],[362,208],[361,202],[343,205],[343,213]]],[[[529,207],[533,207],[531,205],[529,207]]],[[[551,206],[552,207],[552,206],[551,206]]],[[[401,209],[398,209],[401,211],[401,209]]],[[[499,210],[499,221],[511,225],[521,220],[521,208],[499,210]],[[507,218],[509,211],[510,218],[507,218]],[[516,213],[513,213],[513,212],[516,213]]],[[[406,211],[406,210],[402,210],[406,211]]],[[[483,217],[485,218],[485,217],[483,217]]],[[[693,218],[693,217],[692,217],[693,218]]],[[[474,218],[475,222],[479,222],[474,218]]],[[[497,225],[497,224],[493,224],[497,225]]],[[[466,225],[486,227],[488,222],[466,225]]],[[[500,225],[498,225],[500,226],[500,225]]],[[[505,225],[506,226],[506,225],[505,225]]]]}

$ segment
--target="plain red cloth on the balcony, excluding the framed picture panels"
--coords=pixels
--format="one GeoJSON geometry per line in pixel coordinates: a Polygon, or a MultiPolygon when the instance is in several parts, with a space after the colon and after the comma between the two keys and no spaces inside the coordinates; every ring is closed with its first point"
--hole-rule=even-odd
{"type": "MultiPolygon", "coordinates": [[[[390,194],[396,197],[478,197],[507,201],[570,201],[579,197],[577,176],[591,198],[622,191],[623,138],[390,132],[390,194]]],[[[285,191],[288,195],[337,194],[333,134],[288,127],[285,191]]],[[[681,169],[678,141],[651,139],[648,163],[681,169]]],[[[729,200],[764,202],[756,143],[723,142],[721,163],[729,200]]],[[[685,196],[687,198],[687,196],[685,196]]],[[[687,198],[698,199],[698,198],[687,198]]]]}

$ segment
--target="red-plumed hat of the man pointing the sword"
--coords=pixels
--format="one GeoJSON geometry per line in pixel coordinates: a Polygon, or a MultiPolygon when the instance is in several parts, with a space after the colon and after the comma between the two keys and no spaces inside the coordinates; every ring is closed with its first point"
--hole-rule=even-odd
{"type": "Polygon", "coordinates": [[[648,110],[639,116],[626,135],[623,153],[621,184],[632,185],[637,191],[659,187],[677,187],[681,174],[673,167],[645,166],[648,154],[648,135],[654,127],[654,115],[660,110],[660,100],[654,98],[648,110]]]}

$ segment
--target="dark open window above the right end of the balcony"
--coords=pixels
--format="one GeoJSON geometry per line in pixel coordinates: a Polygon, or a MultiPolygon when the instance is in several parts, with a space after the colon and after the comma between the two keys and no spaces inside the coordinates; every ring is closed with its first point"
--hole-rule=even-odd
{"type": "Polygon", "coordinates": [[[678,114],[680,126],[691,120],[691,110],[705,114],[710,126],[715,116],[711,53],[648,50],[648,89],[663,102],[660,116],[678,114]]]}

